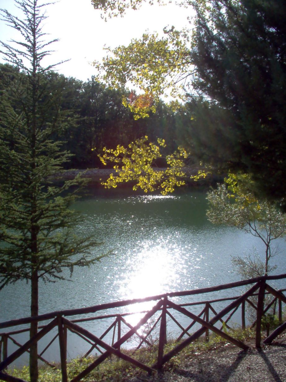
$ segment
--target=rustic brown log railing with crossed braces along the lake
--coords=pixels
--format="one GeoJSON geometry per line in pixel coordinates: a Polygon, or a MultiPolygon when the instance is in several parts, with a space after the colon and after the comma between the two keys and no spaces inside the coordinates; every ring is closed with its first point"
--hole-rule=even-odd
{"type": "MultiPolygon", "coordinates": [[[[17,325],[30,324],[33,321],[42,322],[49,321],[48,324],[39,326],[38,333],[29,339],[26,343],[21,345],[14,338],[13,335],[27,332],[29,329],[19,329],[10,332],[2,332],[0,333],[0,380],[4,381],[19,381],[18,378],[10,376],[7,374],[6,368],[11,365],[16,359],[18,359],[23,353],[29,352],[29,349],[32,344],[37,343],[43,338],[47,333],[56,328],[56,335],[52,338],[52,340],[48,343],[48,345],[43,349],[43,351],[38,355],[38,358],[47,363],[51,367],[55,367],[53,364],[48,362],[43,358],[43,354],[49,348],[49,346],[58,338],[59,340],[59,350],[60,350],[60,367],[62,373],[62,381],[67,382],[67,330],[72,333],[75,333],[82,339],[84,339],[89,345],[90,348],[86,352],[85,357],[88,356],[94,349],[100,353],[100,355],[95,358],[95,360],[82,372],[80,372],[76,377],[74,377],[70,382],[78,382],[85,376],[87,376],[95,367],[100,365],[106,358],[108,358],[111,354],[114,354],[120,359],[124,359],[127,362],[130,362],[135,367],[140,367],[141,369],[152,373],[156,370],[162,369],[163,365],[169,361],[172,357],[182,351],[186,346],[188,346],[191,342],[198,339],[202,335],[205,335],[205,339],[209,338],[209,331],[212,331],[219,335],[222,338],[225,338],[228,342],[231,342],[238,346],[243,350],[247,350],[249,346],[245,343],[231,337],[230,334],[226,333],[222,327],[225,325],[227,328],[230,328],[230,319],[233,314],[241,307],[241,327],[244,329],[246,326],[246,318],[245,318],[245,308],[246,304],[250,304],[252,308],[256,311],[256,319],[252,323],[252,327],[255,327],[255,345],[257,348],[261,346],[261,325],[262,325],[262,317],[269,311],[270,308],[273,308],[275,312],[276,307],[278,308],[278,318],[280,321],[280,325],[272,332],[268,333],[267,338],[263,341],[264,344],[271,343],[283,330],[286,329],[286,322],[283,322],[282,317],[282,304],[286,304],[286,297],[283,293],[286,289],[275,290],[269,283],[271,280],[279,280],[285,279],[286,274],[277,275],[277,276],[264,276],[252,278],[249,280],[244,280],[240,282],[218,285],[209,288],[202,288],[196,290],[188,290],[188,291],[180,291],[180,292],[172,292],[165,293],[163,295],[150,296],[143,299],[133,299],[133,300],[125,300],[125,301],[117,301],[109,304],[101,304],[95,305],[88,308],[80,308],[80,309],[70,309],[63,311],[55,311],[47,314],[42,314],[37,317],[26,317],[22,319],[11,320],[7,322],[0,323],[0,329],[15,327],[17,325]],[[173,298],[178,299],[182,296],[194,296],[194,295],[202,295],[204,293],[215,292],[215,291],[223,291],[230,288],[237,288],[240,286],[247,286],[247,291],[243,293],[243,295],[228,297],[228,298],[220,298],[220,299],[212,299],[191,303],[178,304],[172,301],[173,298]],[[265,295],[271,296],[271,301],[267,306],[264,306],[265,295]],[[251,297],[256,296],[257,303],[253,303],[251,301],[251,297]],[[126,306],[130,306],[132,304],[138,303],[146,303],[147,301],[154,301],[155,305],[153,308],[148,311],[143,311],[143,317],[139,320],[136,325],[131,325],[127,322],[127,317],[133,313],[114,313],[108,315],[94,316],[94,317],[84,317],[79,319],[67,319],[66,317],[71,317],[75,315],[84,315],[95,313],[98,311],[106,311],[106,309],[114,309],[114,308],[122,308],[126,306]],[[225,303],[223,309],[217,312],[217,309],[214,308],[216,303],[225,303]],[[278,304],[277,304],[278,303],[278,304]],[[192,309],[194,307],[203,306],[203,309],[199,314],[194,314],[192,309]],[[172,313],[171,313],[172,311],[172,313]],[[187,317],[189,320],[189,324],[186,328],[180,324],[178,317],[174,317],[174,312],[176,314],[180,313],[180,317],[187,317]],[[157,316],[156,316],[157,314],[157,316]],[[214,316],[210,318],[210,314],[214,316]],[[138,330],[148,322],[151,317],[156,317],[154,319],[154,324],[148,330],[148,332],[143,335],[140,334],[138,330]],[[164,354],[164,348],[167,341],[167,317],[171,321],[173,321],[178,328],[180,329],[180,335],[177,338],[177,344],[174,348],[167,353],[164,354]],[[84,329],[82,326],[79,326],[79,323],[84,323],[88,321],[96,321],[103,319],[114,319],[111,325],[104,331],[104,333],[97,337],[92,332],[84,329]],[[220,325],[218,325],[220,323],[220,325]],[[190,330],[194,328],[195,324],[199,324],[199,329],[196,329],[194,332],[190,330]],[[127,328],[127,332],[123,334],[122,325],[127,328]],[[216,325],[216,326],[215,326],[216,325]],[[221,326],[221,327],[220,327],[221,326]],[[137,349],[140,348],[143,344],[146,346],[151,346],[151,343],[148,338],[151,335],[152,331],[155,327],[159,327],[159,342],[158,342],[158,353],[157,353],[157,361],[152,365],[146,365],[141,363],[135,358],[136,352],[133,352],[132,356],[125,354],[121,351],[122,345],[126,343],[132,336],[137,336],[139,345],[137,349]],[[106,335],[113,330],[112,335],[112,343],[111,345],[107,342],[104,342],[104,338],[106,335]],[[117,336],[116,336],[117,333],[117,336]],[[183,339],[186,336],[187,338],[183,339]],[[19,348],[14,351],[12,354],[8,355],[8,341],[14,343],[19,348]]],[[[269,301],[269,299],[268,299],[269,301]]],[[[25,381],[24,381],[25,382],[25,381]]]]}

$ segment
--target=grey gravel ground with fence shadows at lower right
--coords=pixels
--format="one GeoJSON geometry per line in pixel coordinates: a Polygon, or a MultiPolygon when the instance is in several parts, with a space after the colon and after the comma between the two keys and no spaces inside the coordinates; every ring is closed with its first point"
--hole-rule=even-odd
{"type": "Polygon", "coordinates": [[[142,374],[129,382],[286,382],[286,334],[258,351],[234,345],[194,354],[173,372],[142,374]]]}

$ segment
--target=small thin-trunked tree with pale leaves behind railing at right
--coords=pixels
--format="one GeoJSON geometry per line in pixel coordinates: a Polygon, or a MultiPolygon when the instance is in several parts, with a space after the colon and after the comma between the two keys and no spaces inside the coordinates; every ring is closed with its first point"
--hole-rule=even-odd
{"type": "Polygon", "coordinates": [[[230,174],[224,184],[207,193],[207,217],[212,223],[236,227],[265,245],[264,262],[257,255],[233,257],[233,266],[243,279],[267,275],[276,268],[269,265],[276,253],[272,242],[286,235],[285,214],[266,199],[256,199],[249,191],[249,181],[247,175],[230,174]]]}

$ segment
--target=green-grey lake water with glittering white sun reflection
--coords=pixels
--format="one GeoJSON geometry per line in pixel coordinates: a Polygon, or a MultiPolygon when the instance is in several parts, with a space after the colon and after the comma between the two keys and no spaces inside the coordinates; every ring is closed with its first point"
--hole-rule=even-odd
{"type": "MultiPolygon", "coordinates": [[[[95,193],[78,201],[74,208],[83,214],[77,233],[92,234],[103,242],[93,253],[112,254],[90,268],[76,269],[72,282],[41,283],[40,314],[235,282],[239,276],[231,270],[231,256],[248,254],[254,246],[264,254],[259,239],[208,222],[207,202],[201,192],[171,196],[95,193]]],[[[278,264],[275,273],[282,274],[286,273],[286,245],[284,240],[277,240],[277,244],[280,253],[272,261],[278,264]]],[[[277,286],[285,287],[283,282],[277,286]]],[[[226,290],[220,297],[233,293],[239,291],[226,290]]],[[[6,286],[0,291],[0,302],[0,322],[29,316],[29,285],[18,282],[6,286]]],[[[151,306],[149,303],[144,308],[151,306]]],[[[129,321],[135,324],[137,319],[130,316],[129,321]]],[[[92,329],[100,335],[107,324],[92,329]]],[[[85,327],[91,329],[88,325],[85,327]]],[[[18,340],[23,342],[24,335],[18,340]]],[[[85,352],[81,342],[73,337],[70,341],[71,357],[85,352]]],[[[45,358],[54,360],[57,354],[51,348],[45,358]]]]}

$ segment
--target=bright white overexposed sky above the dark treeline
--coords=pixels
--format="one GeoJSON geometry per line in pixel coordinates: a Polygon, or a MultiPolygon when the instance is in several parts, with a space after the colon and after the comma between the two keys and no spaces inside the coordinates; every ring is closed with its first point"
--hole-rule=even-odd
{"type": "MultiPolygon", "coordinates": [[[[20,17],[13,0],[0,0],[0,8],[20,17]]],[[[113,18],[107,22],[101,19],[100,14],[90,0],[59,0],[47,7],[49,17],[45,22],[45,32],[50,33],[50,39],[60,39],[51,45],[56,52],[49,63],[70,59],[58,66],[59,73],[85,81],[96,74],[90,63],[101,60],[105,55],[104,45],[127,45],[133,37],[141,37],[146,29],[161,33],[167,25],[182,28],[189,16],[188,10],[172,4],[145,4],[139,11],[129,10],[124,18],[113,18]]],[[[11,38],[17,39],[16,31],[0,21],[0,40],[8,42],[11,38]]]]}

